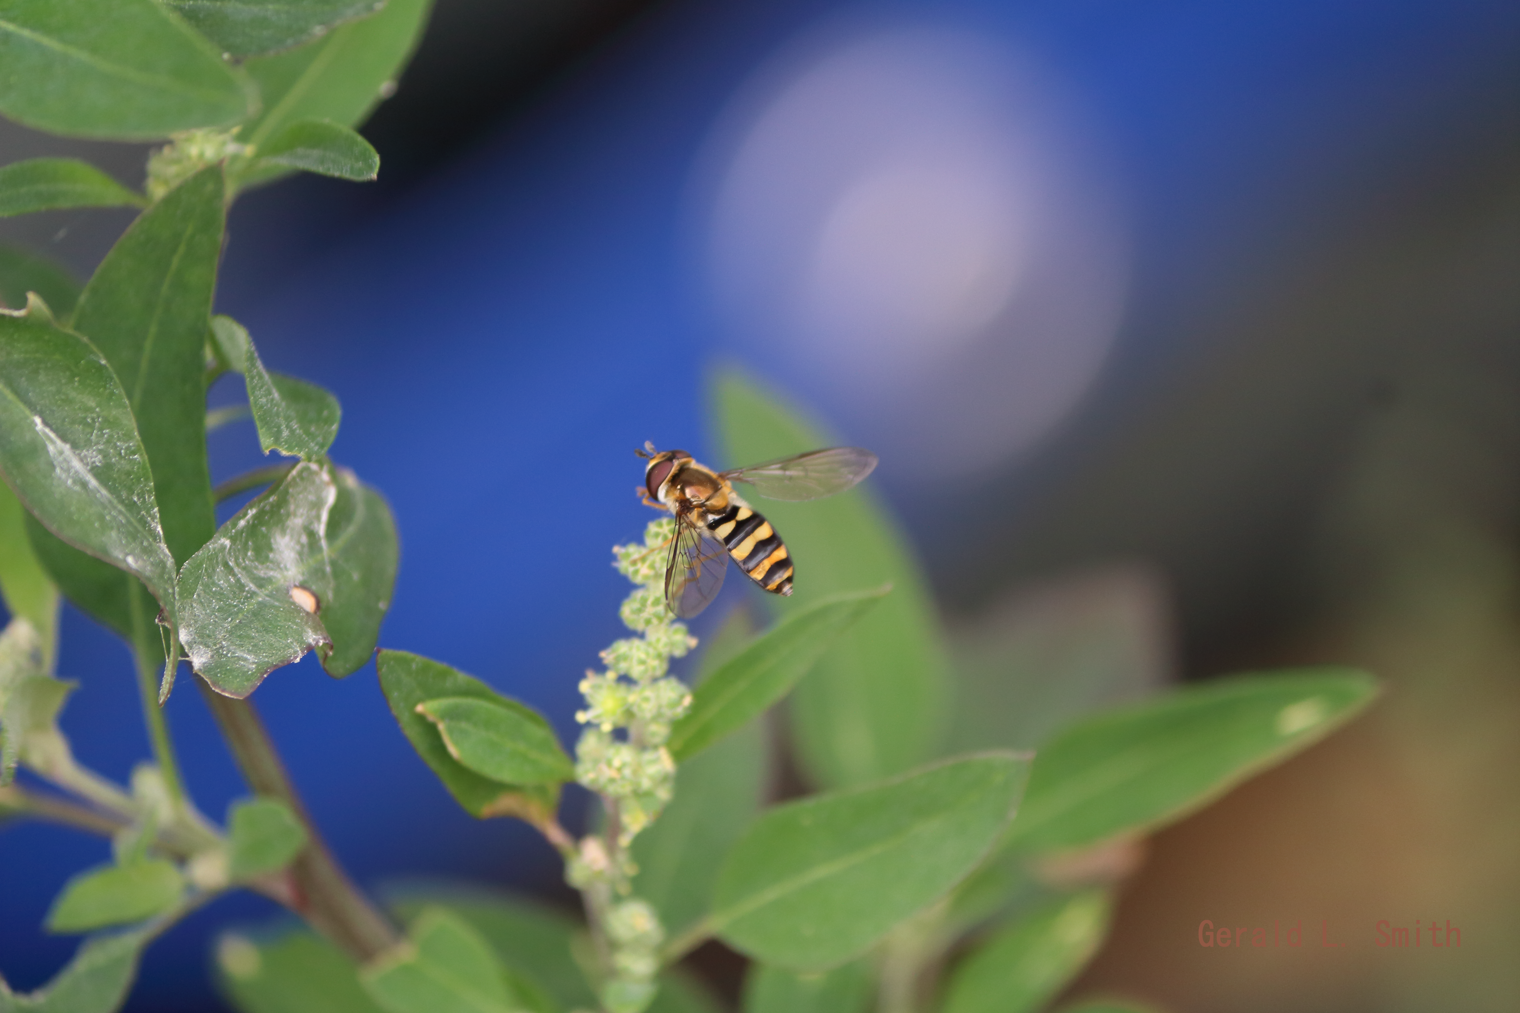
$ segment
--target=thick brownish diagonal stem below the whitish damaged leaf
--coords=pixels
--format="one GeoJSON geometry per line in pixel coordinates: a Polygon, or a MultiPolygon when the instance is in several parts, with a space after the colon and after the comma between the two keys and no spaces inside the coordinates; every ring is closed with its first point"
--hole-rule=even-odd
{"type": "Polygon", "coordinates": [[[223,697],[202,680],[196,680],[196,685],[201,686],[248,787],[284,802],[306,826],[310,843],[290,863],[293,910],[360,963],[400,943],[395,926],[359,892],[333,858],[290,784],[254,705],[223,697]]]}

